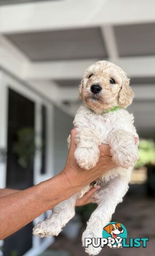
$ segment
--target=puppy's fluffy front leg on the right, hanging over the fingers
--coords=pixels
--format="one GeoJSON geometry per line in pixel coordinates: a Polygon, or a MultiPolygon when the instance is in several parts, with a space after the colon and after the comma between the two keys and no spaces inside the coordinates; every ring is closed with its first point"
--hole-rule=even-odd
{"type": "Polygon", "coordinates": [[[117,166],[128,169],[139,159],[134,137],[133,133],[124,130],[116,130],[109,135],[108,143],[111,147],[112,160],[117,166]]]}

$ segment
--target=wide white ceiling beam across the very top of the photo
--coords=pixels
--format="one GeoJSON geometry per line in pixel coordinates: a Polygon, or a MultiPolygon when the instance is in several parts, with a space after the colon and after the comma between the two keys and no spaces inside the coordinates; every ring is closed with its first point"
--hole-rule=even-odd
{"type": "Polygon", "coordinates": [[[154,22],[154,9],[154,0],[63,0],[4,5],[0,7],[0,33],[154,22]]]}

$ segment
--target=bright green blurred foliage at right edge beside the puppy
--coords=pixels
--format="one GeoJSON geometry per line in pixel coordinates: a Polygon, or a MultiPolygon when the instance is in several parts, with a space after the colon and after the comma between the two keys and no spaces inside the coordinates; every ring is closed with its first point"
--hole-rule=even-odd
{"type": "Polygon", "coordinates": [[[135,164],[136,168],[147,164],[155,165],[155,143],[153,140],[140,140],[138,151],[140,159],[135,164]]]}

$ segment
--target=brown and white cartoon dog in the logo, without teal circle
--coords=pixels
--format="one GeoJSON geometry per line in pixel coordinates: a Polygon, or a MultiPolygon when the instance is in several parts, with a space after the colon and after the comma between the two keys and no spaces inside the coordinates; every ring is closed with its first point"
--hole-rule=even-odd
{"type": "MultiPolygon", "coordinates": [[[[115,224],[109,224],[108,226],[103,228],[108,234],[110,234],[112,236],[112,238],[116,239],[116,238],[120,238],[120,236],[118,236],[119,234],[124,232],[124,229],[121,227],[121,224],[119,222],[116,222],[115,224]]],[[[108,244],[108,247],[112,248],[112,247],[122,247],[121,243],[118,243],[118,245],[116,244],[108,244]]]]}

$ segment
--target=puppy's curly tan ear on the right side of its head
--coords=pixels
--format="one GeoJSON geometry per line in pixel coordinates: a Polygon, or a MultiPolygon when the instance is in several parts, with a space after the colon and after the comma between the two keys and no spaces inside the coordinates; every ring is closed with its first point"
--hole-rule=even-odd
{"type": "Polygon", "coordinates": [[[129,86],[129,78],[126,77],[121,85],[121,90],[119,92],[119,105],[126,108],[132,103],[133,98],[134,92],[129,86]]]}

